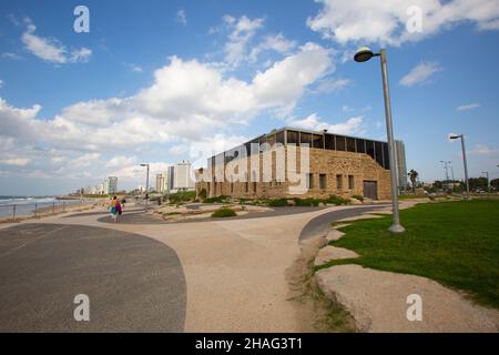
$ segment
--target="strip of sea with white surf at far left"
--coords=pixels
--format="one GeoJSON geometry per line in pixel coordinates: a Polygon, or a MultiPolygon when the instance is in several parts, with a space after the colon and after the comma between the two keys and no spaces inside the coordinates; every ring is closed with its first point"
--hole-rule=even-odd
{"type": "Polygon", "coordinates": [[[0,217],[11,217],[16,205],[16,216],[34,214],[34,209],[54,206],[62,209],[65,205],[81,203],[80,199],[58,200],[55,196],[0,196],[0,217]]]}

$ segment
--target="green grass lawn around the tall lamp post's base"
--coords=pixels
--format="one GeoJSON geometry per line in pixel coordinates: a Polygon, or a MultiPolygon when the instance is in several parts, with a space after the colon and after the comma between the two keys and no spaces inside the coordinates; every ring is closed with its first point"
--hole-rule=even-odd
{"type": "Polygon", "coordinates": [[[358,221],[332,245],[359,258],[326,265],[363,266],[429,277],[499,308],[499,201],[420,204],[400,214],[406,232],[387,231],[391,216],[358,221]]]}

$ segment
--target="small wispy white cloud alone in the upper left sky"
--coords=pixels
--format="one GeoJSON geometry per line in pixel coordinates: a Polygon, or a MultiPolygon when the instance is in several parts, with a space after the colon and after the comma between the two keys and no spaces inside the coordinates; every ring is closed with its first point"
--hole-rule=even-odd
{"type": "Polygon", "coordinates": [[[31,19],[27,18],[24,19],[24,22],[27,29],[21,36],[21,41],[24,44],[24,48],[35,57],[59,64],[89,61],[90,55],[92,54],[90,49],[80,48],[68,52],[65,47],[58,40],[35,36],[34,31],[37,30],[37,27],[31,19]]]}

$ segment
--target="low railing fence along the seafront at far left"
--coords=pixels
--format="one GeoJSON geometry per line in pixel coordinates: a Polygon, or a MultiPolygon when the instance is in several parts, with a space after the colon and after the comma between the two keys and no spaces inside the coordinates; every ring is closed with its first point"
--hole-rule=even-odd
{"type": "Polygon", "coordinates": [[[14,203],[0,205],[0,221],[16,221],[17,219],[40,217],[74,211],[93,205],[84,200],[70,200],[60,202],[14,203]]]}

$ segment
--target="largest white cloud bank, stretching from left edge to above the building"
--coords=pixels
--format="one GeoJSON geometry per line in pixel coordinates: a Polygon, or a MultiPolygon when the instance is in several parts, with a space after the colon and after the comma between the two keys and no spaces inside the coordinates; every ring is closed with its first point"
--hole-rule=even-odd
{"type": "Polygon", "coordinates": [[[173,57],[154,72],[150,87],[133,95],[77,102],[43,119],[38,116],[38,104],[16,108],[0,98],[0,146],[14,158],[32,158],[39,164],[33,170],[48,174],[101,176],[110,164],[134,163],[125,158],[135,156],[135,149],[152,146],[146,144],[181,142],[200,148],[200,136],[248,124],[264,111],[291,112],[330,64],[328,50],[307,43],[244,81],[211,63],[173,57]]]}

